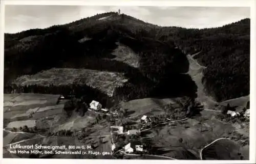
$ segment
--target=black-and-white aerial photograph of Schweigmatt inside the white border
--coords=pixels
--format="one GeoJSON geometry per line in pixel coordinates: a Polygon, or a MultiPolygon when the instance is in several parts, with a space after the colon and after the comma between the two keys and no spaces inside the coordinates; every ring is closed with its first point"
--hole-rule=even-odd
{"type": "Polygon", "coordinates": [[[6,5],[4,32],[3,158],[249,160],[250,7],[6,5]]]}

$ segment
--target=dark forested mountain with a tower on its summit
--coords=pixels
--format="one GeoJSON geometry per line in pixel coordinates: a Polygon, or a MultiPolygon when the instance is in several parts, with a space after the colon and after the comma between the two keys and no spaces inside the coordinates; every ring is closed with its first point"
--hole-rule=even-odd
{"type": "Polygon", "coordinates": [[[9,86],[18,76],[53,67],[79,68],[124,73],[129,80],[115,91],[119,100],[161,96],[166,88],[165,96],[195,96],[195,83],[183,77],[188,71],[185,54],[200,52],[194,58],[206,67],[206,91],[223,101],[249,94],[249,48],[250,19],[198,30],[161,27],[109,12],[5,34],[4,82],[9,86]],[[113,60],[122,53],[120,46],[132,55],[113,60]],[[136,67],[129,60],[136,60],[136,67]]]}

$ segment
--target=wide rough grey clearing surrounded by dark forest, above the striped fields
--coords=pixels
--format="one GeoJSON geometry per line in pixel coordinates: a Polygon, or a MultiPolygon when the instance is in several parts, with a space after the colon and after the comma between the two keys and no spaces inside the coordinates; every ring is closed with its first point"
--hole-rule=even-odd
{"type": "Polygon", "coordinates": [[[117,72],[52,68],[34,75],[18,77],[15,83],[22,86],[35,84],[40,86],[80,84],[97,88],[103,93],[112,96],[114,88],[121,87],[127,80],[123,73],[117,72]]]}

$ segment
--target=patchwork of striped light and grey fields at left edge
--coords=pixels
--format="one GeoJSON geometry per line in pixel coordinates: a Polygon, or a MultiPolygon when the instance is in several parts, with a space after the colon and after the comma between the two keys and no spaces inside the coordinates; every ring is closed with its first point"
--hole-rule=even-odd
{"type": "Polygon", "coordinates": [[[5,94],[6,110],[4,111],[4,127],[28,127],[49,128],[54,120],[48,117],[63,115],[64,103],[56,105],[59,95],[49,94],[5,94]],[[12,102],[12,105],[9,106],[12,102]],[[28,103],[29,102],[29,103],[28,103]],[[32,116],[32,118],[30,118],[32,116]],[[44,120],[46,119],[46,120],[44,120]],[[43,122],[43,123],[40,123],[43,122]]]}

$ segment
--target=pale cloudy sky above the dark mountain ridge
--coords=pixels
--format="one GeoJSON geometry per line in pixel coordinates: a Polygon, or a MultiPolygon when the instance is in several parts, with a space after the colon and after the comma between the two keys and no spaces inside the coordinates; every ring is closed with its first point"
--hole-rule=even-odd
{"type": "Polygon", "coordinates": [[[210,28],[250,18],[249,7],[138,7],[138,6],[20,6],[5,7],[5,33],[65,24],[120,9],[157,25],[210,28]]]}

